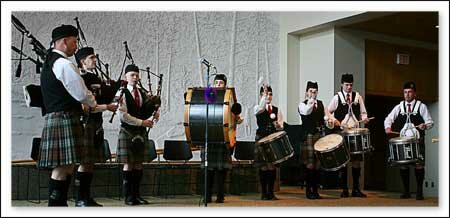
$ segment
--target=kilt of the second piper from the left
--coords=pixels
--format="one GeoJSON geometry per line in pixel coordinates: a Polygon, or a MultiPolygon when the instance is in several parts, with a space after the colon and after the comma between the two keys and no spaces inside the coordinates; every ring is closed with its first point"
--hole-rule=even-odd
{"type": "Polygon", "coordinates": [[[106,162],[104,147],[103,119],[89,119],[84,126],[81,163],[94,164],[106,162]]]}

